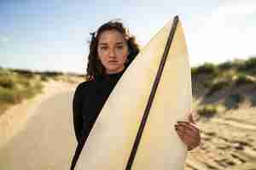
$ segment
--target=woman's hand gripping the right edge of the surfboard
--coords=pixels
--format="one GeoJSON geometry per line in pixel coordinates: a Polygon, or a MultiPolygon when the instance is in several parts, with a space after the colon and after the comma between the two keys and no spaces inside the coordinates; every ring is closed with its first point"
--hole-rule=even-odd
{"type": "Polygon", "coordinates": [[[200,130],[195,125],[192,112],[189,113],[189,122],[177,122],[175,129],[188,150],[193,150],[201,143],[200,130]]]}

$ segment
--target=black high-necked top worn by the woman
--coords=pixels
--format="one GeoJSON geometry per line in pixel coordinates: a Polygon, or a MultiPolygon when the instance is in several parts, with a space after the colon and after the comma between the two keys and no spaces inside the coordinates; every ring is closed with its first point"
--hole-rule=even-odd
{"type": "Polygon", "coordinates": [[[76,88],[73,96],[73,125],[79,144],[84,145],[104,103],[123,73],[97,76],[94,80],[81,82],[76,88]]]}

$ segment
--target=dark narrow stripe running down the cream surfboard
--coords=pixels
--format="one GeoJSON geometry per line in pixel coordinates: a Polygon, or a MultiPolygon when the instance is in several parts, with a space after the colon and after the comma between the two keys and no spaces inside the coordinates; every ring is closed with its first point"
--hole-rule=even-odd
{"type": "Polygon", "coordinates": [[[140,140],[142,138],[143,130],[144,130],[144,127],[145,127],[147,119],[148,119],[148,114],[149,114],[151,105],[153,103],[154,94],[155,94],[156,89],[158,87],[158,84],[160,82],[160,77],[162,75],[162,72],[164,70],[164,66],[166,64],[166,58],[168,56],[169,49],[170,49],[171,44],[172,44],[172,39],[173,39],[174,34],[176,32],[176,29],[177,29],[177,23],[178,23],[178,16],[175,16],[174,20],[173,20],[173,23],[172,23],[172,29],[170,31],[168,40],[166,42],[166,48],[164,50],[164,54],[163,54],[162,59],[160,61],[160,66],[158,68],[156,77],[154,78],[154,84],[153,84],[153,87],[151,89],[151,93],[150,93],[150,96],[148,98],[148,103],[147,103],[146,109],[145,109],[144,114],[143,114],[143,120],[142,120],[142,122],[140,124],[140,127],[138,129],[137,137],[136,137],[135,142],[132,146],[131,155],[130,155],[129,160],[126,164],[125,170],[131,170],[132,163],[135,159],[135,156],[136,156],[136,153],[137,153],[137,148],[138,148],[138,145],[139,145],[140,140]]]}

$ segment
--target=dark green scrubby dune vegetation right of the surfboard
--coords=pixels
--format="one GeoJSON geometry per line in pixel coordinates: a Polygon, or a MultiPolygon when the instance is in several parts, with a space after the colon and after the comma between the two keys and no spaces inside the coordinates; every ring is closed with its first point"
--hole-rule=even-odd
{"type": "Polygon", "coordinates": [[[204,87],[194,99],[201,108],[201,116],[211,117],[217,111],[209,105],[223,105],[224,111],[238,109],[243,102],[256,105],[256,58],[205,64],[192,68],[191,74],[195,88],[204,87]],[[219,95],[214,95],[217,93],[219,95]]]}

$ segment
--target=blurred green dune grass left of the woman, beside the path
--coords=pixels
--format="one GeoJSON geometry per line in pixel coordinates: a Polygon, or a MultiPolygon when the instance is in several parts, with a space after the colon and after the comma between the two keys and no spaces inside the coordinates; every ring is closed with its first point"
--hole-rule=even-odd
{"type": "Polygon", "coordinates": [[[30,99],[40,94],[43,82],[49,80],[74,82],[73,77],[82,77],[82,75],[68,76],[54,71],[33,72],[0,67],[0,115],[10,105],[18,104],[23,99],[30,99]]]}

